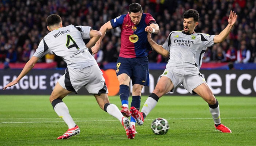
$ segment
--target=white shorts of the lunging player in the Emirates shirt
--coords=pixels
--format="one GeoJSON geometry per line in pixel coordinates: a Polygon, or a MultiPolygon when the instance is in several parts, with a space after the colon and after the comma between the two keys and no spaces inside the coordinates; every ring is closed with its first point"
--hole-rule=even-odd
{"type": "Polygon", "coordinates": [[[193,89],[206,82],[204,76],[197,68],[181,68],[172,66],[166,68],[161,76],[170,78],[173,82],[174,89],[182,84],[183,87],[191,94],[195,94],[193,89]]]}

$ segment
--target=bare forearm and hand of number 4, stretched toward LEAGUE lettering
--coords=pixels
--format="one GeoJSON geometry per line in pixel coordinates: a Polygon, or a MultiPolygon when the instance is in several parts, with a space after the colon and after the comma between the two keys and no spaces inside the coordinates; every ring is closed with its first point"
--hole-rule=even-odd
{"type": "Polygon", "coordinates": [[[5,90],[7,87],[11,87],[11,86],[17,84],[19,82],[19,80],[21,78],[23,78],[27,73],[29,73],[29,71],[35,66],[38,59],[39,59],[38,57],[34,57],[34,56],[31,59],[29,59],[29,61],[26,63],[26,65],[20,72],[19,76],[15,80],[13,80],[9,84],[7,84],[3,89],[5,90]]]}

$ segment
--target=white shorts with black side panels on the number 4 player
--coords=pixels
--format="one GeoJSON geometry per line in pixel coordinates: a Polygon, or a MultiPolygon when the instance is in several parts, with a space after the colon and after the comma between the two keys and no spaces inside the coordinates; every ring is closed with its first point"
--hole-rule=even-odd
{"type": "Polygon", "coordinates": [[[90,94],[108,93],[105,78],[98,65],[83,69],[67,68],[66,73],[59,78],[59,84],[68,91],[78,92],[83,86],[90,94]]]}

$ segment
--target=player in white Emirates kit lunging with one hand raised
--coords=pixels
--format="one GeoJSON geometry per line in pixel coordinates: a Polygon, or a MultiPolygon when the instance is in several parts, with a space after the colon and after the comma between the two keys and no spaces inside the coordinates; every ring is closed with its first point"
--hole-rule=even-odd
{"type": "Polygon", "coordinates": [[[199,69],[202,65],[206,47],[213,46],[226,39],[236,23],[237,15],[230,11],[229,24],[218,35],[208,35],[194,31],[199,19],[199,13],[194,9],[185,11],[183,18],[183,31],[170,32],[162,46],[155,43],[151,34],[148,33],[148,42],[151,47],[159,54],[163,56],[170,55],[170,57],[165,71],[153,93],[145,101],[141,112],[133,111],[136,114],[135,119],[139,125],[142,125],[144,118],[153,110],[158,99],[182,84],[190,93],[198,94],[208,103],[215,128],[222,132],[231,133],[229,128],[221,124],[219,103],[199,69]]]}

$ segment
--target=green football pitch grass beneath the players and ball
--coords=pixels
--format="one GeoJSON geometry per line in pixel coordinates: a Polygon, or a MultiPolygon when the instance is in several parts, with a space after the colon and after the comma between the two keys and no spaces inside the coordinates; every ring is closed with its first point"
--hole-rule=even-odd
{"type": "MultiPolygon", "coordinates": [[[[109,97],[118,107],[118,96],[109,97]]],[[[142,96],[141,107],[147,96],[142,96]]],[[[214,128],[208,105],[199,96],[163,96],[138,134],[128,139],[121,123],[101,110],[93,96],[69,95],[63,99],[81,133],[56,138],[68,127],[54,112],[48,95],[0,96],[1,146],[255,146],[256,97],[217,97],[221,122],[232,133],[214,128]],[[151,122],[165,118],[170,129],[155,135],[151,122]]],[[[131,98],[129,98],[131,103],[131,98]]],[[[121,110],[121,108],[120,108],[121,110]]]]}

